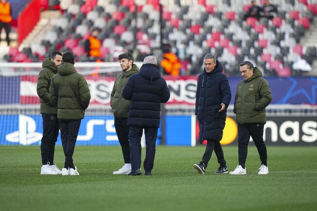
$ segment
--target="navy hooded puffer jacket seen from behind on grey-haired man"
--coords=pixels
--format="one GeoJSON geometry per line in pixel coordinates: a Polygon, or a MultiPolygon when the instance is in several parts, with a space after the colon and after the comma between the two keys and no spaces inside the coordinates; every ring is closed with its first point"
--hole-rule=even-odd
{"type": "Polygon", "coordinates": [[[159,127],[160,103],[169,100],[170,91],[157,65],[143,64],[139,73],[129,78],[122,96],[131,100],[128,125],[159,127]]]}

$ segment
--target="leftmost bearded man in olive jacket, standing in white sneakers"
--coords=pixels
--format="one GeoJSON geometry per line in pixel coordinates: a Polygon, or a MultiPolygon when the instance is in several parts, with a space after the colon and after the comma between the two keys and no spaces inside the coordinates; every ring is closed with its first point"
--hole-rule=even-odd
{"type": "Polygon", "coordinates": [[[62,62],[62,53],[55,51],[51,58],[46,58],[42,63],[39,73],[37,93],[40,97],[40,113],[43,118],[43,136],[41,139],[42,167],[40,174],[60,174],[59,168],[54,165],[55,143],[59,136],[59,120],[57,119],[57,107],[50,106],[49,89],[52,77],[57,74],[62,62]]]}

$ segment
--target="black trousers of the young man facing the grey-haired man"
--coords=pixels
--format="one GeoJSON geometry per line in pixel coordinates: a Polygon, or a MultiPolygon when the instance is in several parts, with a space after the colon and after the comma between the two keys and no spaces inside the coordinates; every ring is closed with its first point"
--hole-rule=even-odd
{"type": "Polygon", "coordinates": [[[115,117],[115,129],[121,145],[124,163],[130,163],[128,118],[115,117]]]}

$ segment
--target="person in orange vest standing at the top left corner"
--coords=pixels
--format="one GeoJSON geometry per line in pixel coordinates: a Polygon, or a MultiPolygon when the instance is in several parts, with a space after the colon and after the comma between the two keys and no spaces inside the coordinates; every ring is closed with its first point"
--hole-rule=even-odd
{"type": "Polygon", "coordinates": [[[10,46],[10,22],[12,20],[12,9],[10,6],[10,3],[7,0],[1,0],[0,1],[0,32],[2,28],[5,30],[6,34],[6,40],[8,43],[8,46],[10,46]]]}

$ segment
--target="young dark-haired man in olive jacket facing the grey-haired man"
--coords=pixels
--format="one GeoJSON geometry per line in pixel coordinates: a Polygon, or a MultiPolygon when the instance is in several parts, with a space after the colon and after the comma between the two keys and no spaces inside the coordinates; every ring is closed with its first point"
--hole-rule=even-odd
{"type": "Polygon", "coordinates": [[[127,84],[129,77],[139,72],[139,68],[133,63],[134,59],[130,53],[120,54],[118,60],[122,72],[115,80],[110,96],[110,105],[115,117],[115,129],[121,145],[124,165],[118,171],[113,172],[113,174],[127,174],[131,172],[130,143],[128,137],[130,127],[127,123],[130,100],[123,98],[122,89],[127,84]]]}

